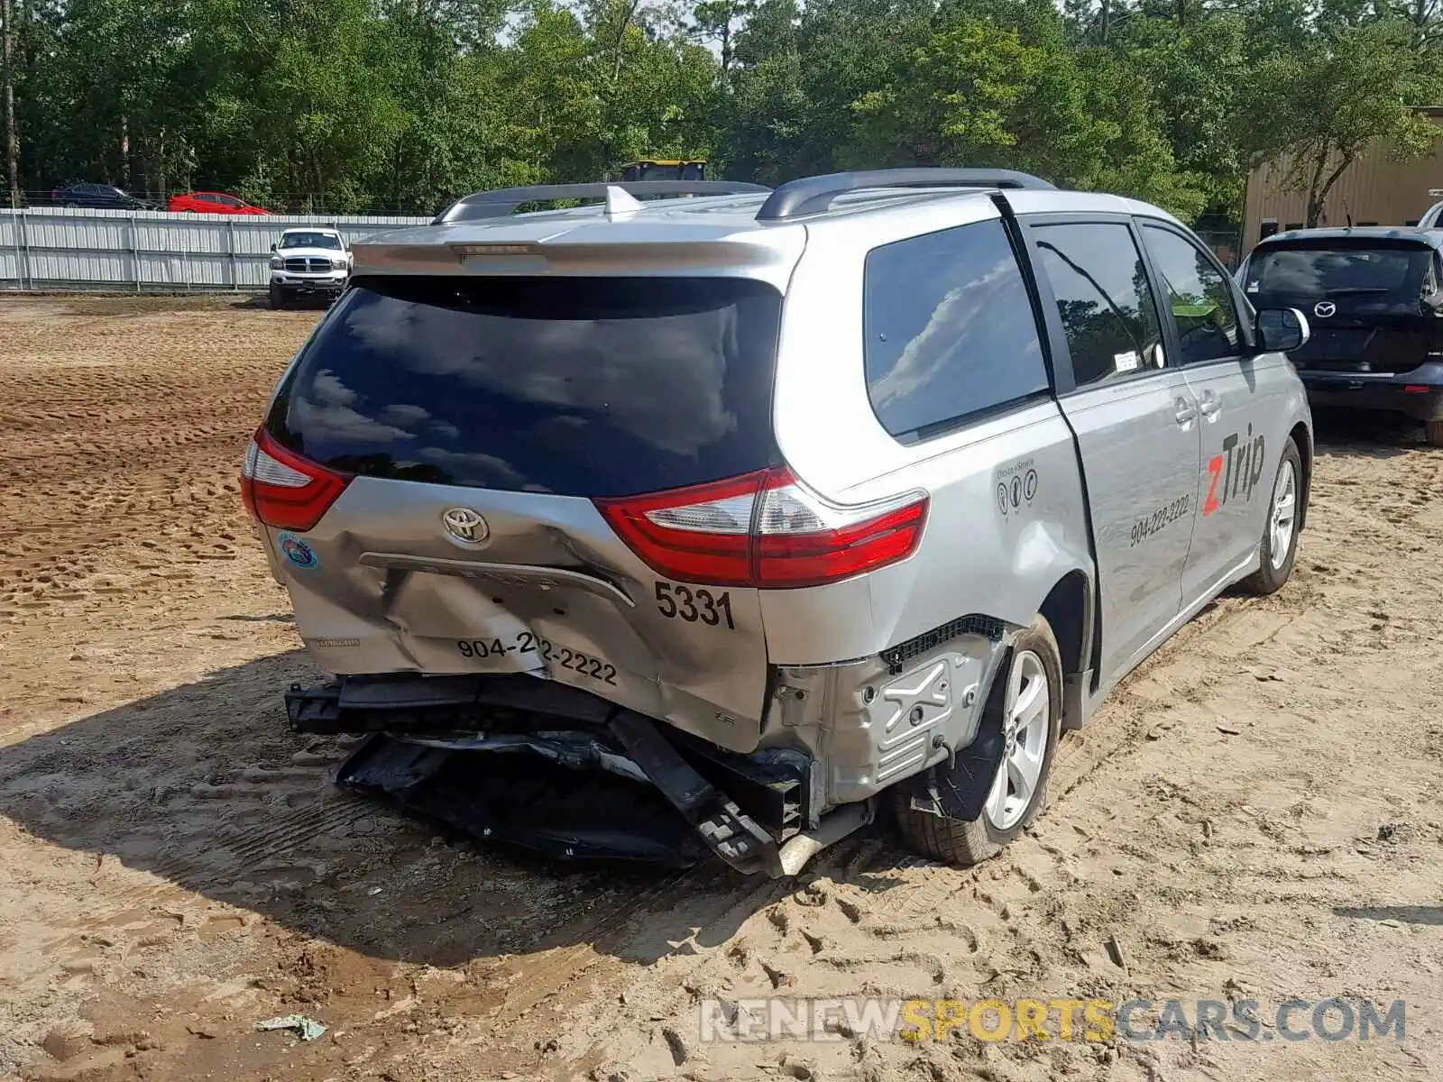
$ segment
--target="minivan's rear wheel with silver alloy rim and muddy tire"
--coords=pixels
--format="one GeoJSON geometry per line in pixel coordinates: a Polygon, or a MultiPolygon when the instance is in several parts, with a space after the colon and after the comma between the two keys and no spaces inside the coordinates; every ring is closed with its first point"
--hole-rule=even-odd
{"type": "Polygon", "coordinates": [[[895,791],[902,837],[911,848],[934,860],[967,866],[994,857],[1046,804],[1062,721],[1062,661],[1046,619],[1039,616],[1017,636],[1007,671],[999,679],[1006,679],[1001,717],[984,717],[983,726],[1000,721],[1001,762],[977,818],[918,811],[909,805],[905,786],[895,791]]]}

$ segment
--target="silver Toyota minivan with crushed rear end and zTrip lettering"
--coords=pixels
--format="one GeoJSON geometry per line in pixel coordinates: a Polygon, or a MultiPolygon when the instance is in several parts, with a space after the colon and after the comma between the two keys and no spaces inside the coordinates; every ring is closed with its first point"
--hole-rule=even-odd
{"type": "Polygon", "coordinates": [[[335,677],[290,721],[558,857],[791,874],[890,791],[986,858],[1061,730],[1287,580],[1306,338],[1166,212],[1006,170],[468,196],[355,245],[247,452],[335,677]]]}

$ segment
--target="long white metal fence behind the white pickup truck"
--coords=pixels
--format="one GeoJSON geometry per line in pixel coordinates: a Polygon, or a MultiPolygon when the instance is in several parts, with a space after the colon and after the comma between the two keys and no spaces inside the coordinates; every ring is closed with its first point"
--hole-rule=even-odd
{"type": "Polygon", "coordinates": [[[283,229],[335,226],[348,241],[429,218],[0,211],[0,290],[263,290],[283,229]]]}

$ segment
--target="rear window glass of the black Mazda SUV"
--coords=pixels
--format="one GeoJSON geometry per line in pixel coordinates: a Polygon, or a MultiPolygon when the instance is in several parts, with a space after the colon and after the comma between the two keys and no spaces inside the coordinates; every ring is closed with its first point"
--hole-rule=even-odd
{"type": "Polygon", "coordinates": [[[1430,257],[1431,250],[1420,245],[1268,245],[1253,254],[1244,290],[1302,297],[1416,291],[1423,286],[1430,257]]]}

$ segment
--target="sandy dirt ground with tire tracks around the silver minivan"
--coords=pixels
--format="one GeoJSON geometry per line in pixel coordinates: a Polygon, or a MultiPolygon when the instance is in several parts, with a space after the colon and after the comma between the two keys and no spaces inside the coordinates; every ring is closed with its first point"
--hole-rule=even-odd
{"type": "MultiPolygon", "coordinates": [[[[1277,596],[1068,737],[974,870],[558,868],[341,792],[237,492],[315,313],[0,300],[0,1078],[1443,1076],[1443,452],[1323,428],[1277,596]],[[1365,997],[1404,1040],[703,1043],[753,995],[1365,997]],[[257,1033],[303,1013],[329,1032],[257,1033]]],[[[1268,1017],[1264,1011],[1264,1017],[1268,1017]]]]}

